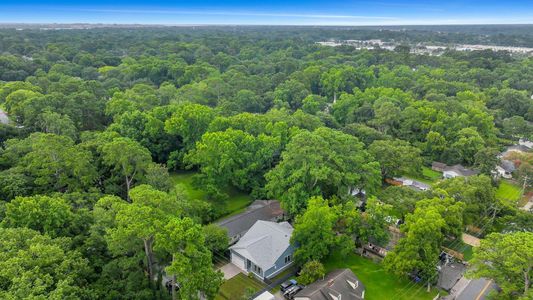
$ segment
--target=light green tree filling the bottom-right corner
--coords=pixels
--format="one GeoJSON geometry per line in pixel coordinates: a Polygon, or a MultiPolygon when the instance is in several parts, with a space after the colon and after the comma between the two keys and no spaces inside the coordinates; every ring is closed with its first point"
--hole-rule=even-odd
{"type": "Polygon", "coordinates": [[[492,233],[474,248],[468,272],[474,278],[490,278],[506,299],[531,299],[533,290],[533,233],[492,233]]]}

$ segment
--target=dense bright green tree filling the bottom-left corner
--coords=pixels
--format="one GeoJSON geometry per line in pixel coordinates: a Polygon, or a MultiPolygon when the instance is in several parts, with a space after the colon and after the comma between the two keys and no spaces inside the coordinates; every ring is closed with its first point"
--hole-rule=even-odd
{"type": "Polygon", "coordinates": [[[89,299],[87,260],[67,238],[0,228],[0,298],[89,299]]]}

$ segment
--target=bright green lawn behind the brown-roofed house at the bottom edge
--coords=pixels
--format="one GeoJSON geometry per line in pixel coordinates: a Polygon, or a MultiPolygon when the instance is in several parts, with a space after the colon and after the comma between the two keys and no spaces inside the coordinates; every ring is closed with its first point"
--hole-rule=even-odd
{"type": "Polygon", "coordinates": [[[380,264],[356,254],[341,256],[334,253],[324,266],[328,272],[338,268],[350,268],[365,285],[367,300],[431,300],[437,295],[436,289],[428,293],[426,286],[399,278],[385,271],[380,264]]]}

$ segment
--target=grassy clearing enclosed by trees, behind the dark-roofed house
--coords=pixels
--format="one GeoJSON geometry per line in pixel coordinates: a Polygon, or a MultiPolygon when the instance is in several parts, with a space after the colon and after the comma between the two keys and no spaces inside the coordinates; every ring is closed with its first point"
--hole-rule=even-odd
{"type": "MultiPolygon", "coordinates": [[[[194,175],[196,175],[196,172],[180,171],[170,174],[170,179],[172,180],[173,185],[179,185],[190,198],[209,201],[207,199],[207,193],[194,186],[194,175]]],[[[252,197],[250,197],[250,195],[237,189],[227,188],[225,192],[228,194],[229,199],[222,204],[225,211],[224,217],[244,211],[244,209],[252,202],[252,197]]],[[[211,203],[215,206],[220,205],[220,203],[211,203]]]]}

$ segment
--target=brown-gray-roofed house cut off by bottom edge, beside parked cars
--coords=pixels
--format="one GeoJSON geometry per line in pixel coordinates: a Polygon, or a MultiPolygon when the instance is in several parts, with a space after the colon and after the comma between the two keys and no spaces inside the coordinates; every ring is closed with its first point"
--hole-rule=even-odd
{"type": "Polygon", "coordinates": [[[365,286],[350,269],[329,272],[294,295],[294,300],[360,300],[365,286]]]}

